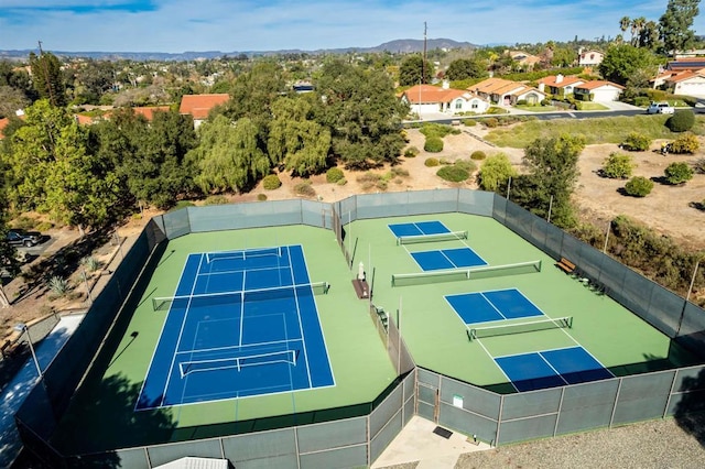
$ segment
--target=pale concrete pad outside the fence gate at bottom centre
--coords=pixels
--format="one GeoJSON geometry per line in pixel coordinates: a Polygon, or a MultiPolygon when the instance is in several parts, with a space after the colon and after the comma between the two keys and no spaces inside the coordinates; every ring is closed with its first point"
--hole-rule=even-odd
{"type": "Polygon", "coordinates": [[[453,469],[460,455],[491,448],[486,443],[475,444],[471,438],[456,432],[446,439],[433,433],[435,427],[433,422],[414,415],[371,468],[419,461],[416,469],[453,469]]]}

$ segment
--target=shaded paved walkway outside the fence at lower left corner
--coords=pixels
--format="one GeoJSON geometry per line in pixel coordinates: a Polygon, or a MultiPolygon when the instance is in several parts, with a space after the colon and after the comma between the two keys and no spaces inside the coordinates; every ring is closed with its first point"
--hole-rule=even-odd
{"type": "MultiPolygon", "coordinates": [[[[42,371],[48,367],[56,353],[64,347],[83,318],[84,315],[62,317],[44,340],[35,345],[36,360],[42,371]]],[[[14,424],[14,414],[39,381],[36,364],[30,356],[22,369],[0,394],[0,468],[10,467],[22,449],[20,434],[14,424]]]]}

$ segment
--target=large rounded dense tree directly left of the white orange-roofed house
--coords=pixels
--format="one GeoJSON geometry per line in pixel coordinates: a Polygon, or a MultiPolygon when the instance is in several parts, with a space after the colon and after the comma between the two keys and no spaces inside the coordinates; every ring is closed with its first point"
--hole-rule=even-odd
{"type": "Polygon", "coordinates": [[[389,76],[341,61],[324,65],[316,83],[315,119],[330,132],[334,154],[349,167],[394,162],[404,146],[401,119],[409,112],[389,76]]]}

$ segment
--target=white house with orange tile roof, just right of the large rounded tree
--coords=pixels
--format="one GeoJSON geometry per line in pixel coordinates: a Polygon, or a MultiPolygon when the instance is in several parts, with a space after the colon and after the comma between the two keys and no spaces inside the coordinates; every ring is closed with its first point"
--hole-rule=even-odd
{"type": "Polygon", "coordinates": [[[452,89],[433,85],[415,85],[401,95],[411,112],[422,117],[429,113],[456,114],[462,112],[485,113],[490,103],[464,89],[452,89]]]}

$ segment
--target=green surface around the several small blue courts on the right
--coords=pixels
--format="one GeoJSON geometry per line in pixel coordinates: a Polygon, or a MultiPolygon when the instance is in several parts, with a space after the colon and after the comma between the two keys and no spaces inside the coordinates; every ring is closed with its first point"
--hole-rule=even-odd
{"type": "Polygon", "coordinates": [[[554,265],[555,260],[492,218],[464,214],[394,217],[358,220],[346,229],[347,242],[352,247],[357,244],[355,262],[362,261],[366,270],[375,271],[375,305],[401,323],[404,341],[420,367],[492,391],[512,392],[511,384],[491,357],[572,347],[577,342],[617,377],[697,362],[695,357],[607,295],[566,275],[554,265]],[[397,246],[388,225],[422,220],[440,220],[451,231],[467,230],[468,239],[397,246]],[[519,275],[391,286],[392,274],[421,272],[410,252],[465,246],[489,265],[541,260],[542,270],[519,275]],[[465,323],[444,295],[503,288],[518,288],[549,317],[573,316],[573,327],[469,341],[465,323]]]}

